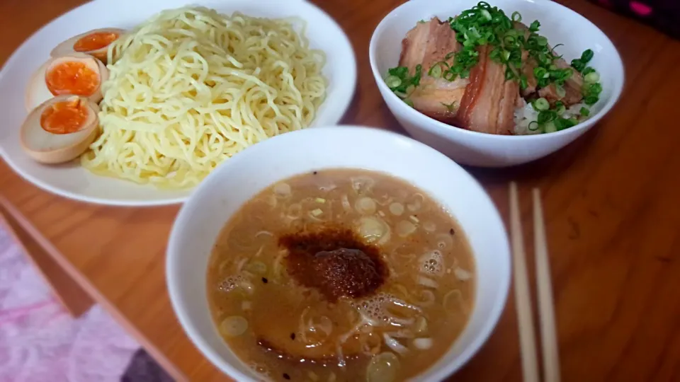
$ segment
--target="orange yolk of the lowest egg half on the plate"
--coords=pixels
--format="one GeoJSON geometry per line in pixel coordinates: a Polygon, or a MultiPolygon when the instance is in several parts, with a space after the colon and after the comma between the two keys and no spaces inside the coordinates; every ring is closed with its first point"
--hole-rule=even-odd
{"type": "Polygon", "coordinates": [[[79,98],[64,100],[45,108],[40,115],[40,127],[52,134],[71,134],[85,126],[89,110],[79,98]]]}

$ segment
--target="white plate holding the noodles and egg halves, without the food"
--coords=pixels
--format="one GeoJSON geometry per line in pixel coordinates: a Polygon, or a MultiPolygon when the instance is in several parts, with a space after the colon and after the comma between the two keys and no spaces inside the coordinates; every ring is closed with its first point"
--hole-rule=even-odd
{"type": "Polygon", "coordinates": [[[151,185],[105,178],[77,163],[45,166],[30,159],[19,146],[19,128],[26,117],[23,94],[33,71],[50,57],[50,51],[69,37],[106,27],[130,29],[164,9],[189,4],[214,8],[220,13],[240,11],[249,16],[297,16],[307,22],[305,37],[313,48],[326,52],[324,76],[327,98],[312,126],[335,125],[347,110],[356,87],[356,58],[340,26],[327,13],[302,0],[96,0],[65,13],[26,40],[0,72],[0,155],[23,178],[71,199],[84,202],[151,206],[183,202],[191,190],[157,190],[151,185]]]}

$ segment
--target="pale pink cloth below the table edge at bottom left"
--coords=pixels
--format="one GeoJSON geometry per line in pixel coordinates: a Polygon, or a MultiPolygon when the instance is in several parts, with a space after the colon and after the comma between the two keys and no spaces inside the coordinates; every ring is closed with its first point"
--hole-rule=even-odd
{"type": "Polygon", "coordinates": [[[117,382],[138,348],[99,306],[69,316],[0,225],[0,382],[117,382]]]}

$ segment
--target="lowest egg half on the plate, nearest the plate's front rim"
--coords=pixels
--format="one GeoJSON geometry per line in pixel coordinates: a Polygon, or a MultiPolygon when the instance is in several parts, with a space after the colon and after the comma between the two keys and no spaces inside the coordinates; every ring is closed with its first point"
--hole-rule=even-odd
{"type": "Polygon", "coordinates": [[[79,96],[57,96],[35,108],[21,126],[21,147],[41,163],[77,158],[98,134],[96,103],[79,96]]]}

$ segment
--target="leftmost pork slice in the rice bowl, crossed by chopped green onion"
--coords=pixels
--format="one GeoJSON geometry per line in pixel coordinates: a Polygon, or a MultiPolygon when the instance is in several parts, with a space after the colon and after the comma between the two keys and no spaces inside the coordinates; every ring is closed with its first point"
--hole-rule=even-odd
{"type": "MultiPolygon", "coordinates": [[[[418,23],[409,30],[402,40],[402,54],[399,66],[407,66],[409,73],[422,66],[420,86],[409,96],[413,106],[424,115],[446,123],[455,120],[460,100],[465,94],[467,80],[447,81],[427,75],[433,64],[444,61],[450,52],[458,52],[460,44],[455,40],[455,31],[446,21],[433,17],[426,23],[418,23]]],[[[448,62],[452,59],[449,57],[448,62]]],[[[442,68],[445,69],[445,68],[442,68]]]]}

